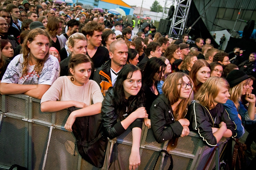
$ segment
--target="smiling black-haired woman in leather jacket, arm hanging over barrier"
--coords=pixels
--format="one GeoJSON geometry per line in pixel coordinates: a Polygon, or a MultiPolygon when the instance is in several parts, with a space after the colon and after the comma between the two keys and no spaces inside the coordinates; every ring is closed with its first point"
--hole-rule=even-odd
{"type": "Polygon", "coordinates": [[[101,108],[104,132],[110,139],[118,137],[131,125],[130,170],[140,165],[142,121],[148,117],[141,86],[140,68],[132,64],[125,65],[119,72],[114,87],[106,92],[101,108]]]}

